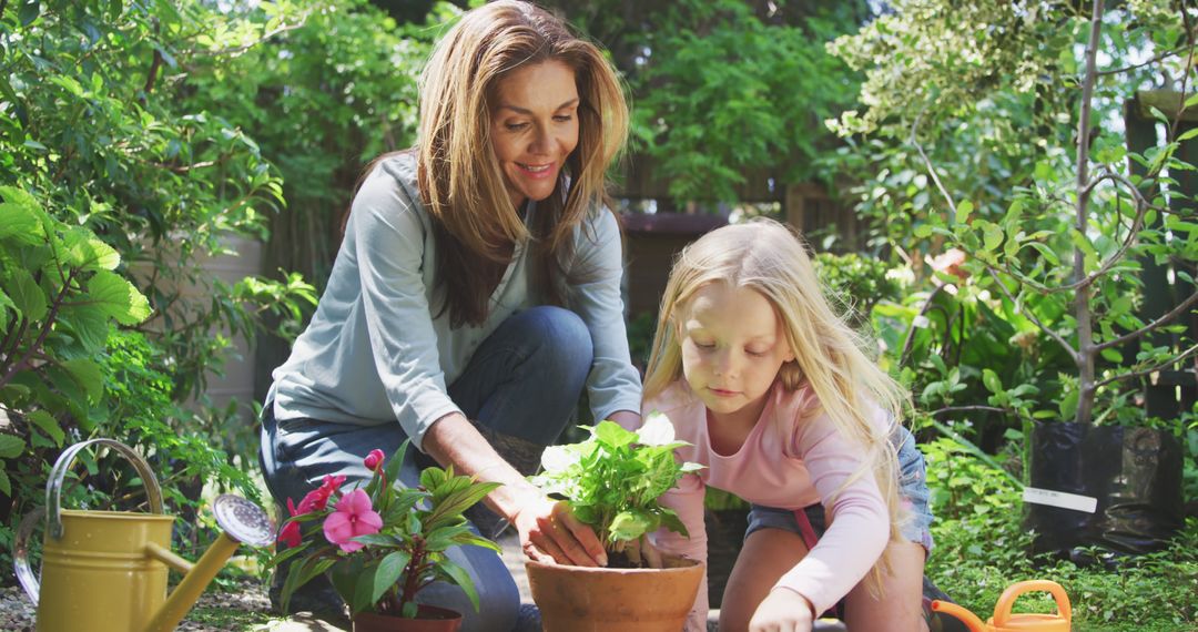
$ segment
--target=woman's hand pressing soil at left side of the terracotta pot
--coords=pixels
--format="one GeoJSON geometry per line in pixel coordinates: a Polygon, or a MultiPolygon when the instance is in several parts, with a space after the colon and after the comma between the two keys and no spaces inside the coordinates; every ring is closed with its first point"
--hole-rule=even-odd
{"type": "Polygon", "coordinates": [[[574,517],[564,502],[538,494],[521,506],[512,522],[520,534],[525,555],[536,561],[607,565],[607,553],[594,530],[574,517]]]}

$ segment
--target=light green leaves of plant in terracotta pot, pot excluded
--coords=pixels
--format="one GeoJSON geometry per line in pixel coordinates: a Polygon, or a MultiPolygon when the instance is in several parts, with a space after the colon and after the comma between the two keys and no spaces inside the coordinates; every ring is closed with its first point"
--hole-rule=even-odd
{"type": "Polygon", "coordinates": [[[583,442],[547,448],[541,456],[544,472],[532,482],[565,498],[609,552],[624,553],[629,542],[643,542],[660,527],[685,534],[678,515],[658,499],[703,466],[674,457],[674,449],[688,444],[674,440],[670,419],[654,412],[637,432],[607,420],[587,430],[591,438],[583,442]]]}

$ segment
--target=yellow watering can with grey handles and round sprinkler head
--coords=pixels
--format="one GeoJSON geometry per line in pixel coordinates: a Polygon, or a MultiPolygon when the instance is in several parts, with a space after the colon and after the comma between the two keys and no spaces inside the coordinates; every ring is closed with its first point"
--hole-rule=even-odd
{"type": "Polygon", "coordinates": [[[25,592],[37,604],[38,632],[168,632],[175,630],[200,592],[242,542],[273,541],[261,508],[236,496],[212,504],[222,534],[199,561],[170,552],[175,518],[162,512],[162,490],[137,451],[113,439],[91,439],[67,448],[46,484],[46,509],[25,516],[13,542],[13,565],[25,592]],[[78,511],[60,508],[62,481],[75,455],[87,446],[110,448],[137,469],[151,514],[78,511]],[[29,566],[29,537],[47,516],[42,578],[29,566]],[[167,596],[168,567],[184,575],[167,596]]]}

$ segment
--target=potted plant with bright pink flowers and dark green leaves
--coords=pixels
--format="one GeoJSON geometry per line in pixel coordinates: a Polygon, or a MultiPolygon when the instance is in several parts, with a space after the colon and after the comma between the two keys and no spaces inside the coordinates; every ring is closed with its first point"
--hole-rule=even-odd
{"type": "Polygon", "coordinates": [[[328,573],[333,588],[350,604],[355,632],[453,632],[461,614],[416,603],[416,595],[435,581],[460,587],[478,608],[478,592],[465,569],[446,557],[454,546],[495,542],[476,535],[462,511],[498,487],[430,467],[420,485],[407,488],[398,475],[407,442],[389,461],[373,450],[365,466],[374,474],[365,487],[343,491],[344,476],[325,476],[319,488],[296,506],[279,530],[285,545],[270,561],[291,560],[283,584],[283,609],[291,594],[319,575],[328,573]],[[434,622],[435,621],[435,622],[434,622]]]}

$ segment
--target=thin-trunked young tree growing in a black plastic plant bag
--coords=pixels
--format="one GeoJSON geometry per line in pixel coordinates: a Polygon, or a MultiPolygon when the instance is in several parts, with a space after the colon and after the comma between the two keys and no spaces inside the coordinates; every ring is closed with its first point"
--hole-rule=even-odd
{"type": "MultiPolygon", "coordinates": [[[[1193,388],[1198,354],[1198,225],[1188,175],[1194,166],[1184,148],[1198,130],[1192,122],[1182,126],[1193,121],[1187,110],[1198,98],[1185,93],[1185,83],[1182,92],[1167,93],[1131,93],[1130,81],[1113,83],[1129,68],[1100,69],[1099,48],[1109,37],[1132,36],[1117,24],[1160,16],[1105,20],[1106,6],[1096,0],[1089,19],[1076,18],[1087,40],[1079,85],[1060,84],[1078,96],[1073,160],[1051,148],[1055,163],[1043,159],[998,218],[976,212],[968,200],[954,201],[925,157],[950,213],[915,231],[964,253],[964,282],[988,292],[1010,318],[1067,358],[1070,369],[1034,370],[1018,384],[1003,384],[988,367],[980,377],[988,409],[1023,420],[1024,502],[1035,549],[1075,558],[1088,546],[1154,551],[1182,525],[1181,446],[1161,419],[1182,412],[1176,393],[1193,388]],[[1105,38],[1103,29],[1112,28],[1120,32],[1105,38]],[[1120,87],[1126,127],[1108,134],[1120,87]],[[1166,133],[1163,145],[1155,139],[1157,126],[1166,133]],[[1154,403],[1158,382],[1167,406],[1154,403]]],[[[1154,37],[1144,45],[1164,44],[1154,37]]],[[[1168,47],[1150,63],[1175,57],[1181,75],[1191,77],[1192,30],[1168,47]]]]}

